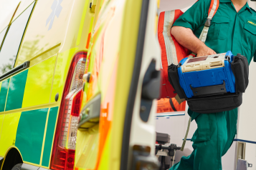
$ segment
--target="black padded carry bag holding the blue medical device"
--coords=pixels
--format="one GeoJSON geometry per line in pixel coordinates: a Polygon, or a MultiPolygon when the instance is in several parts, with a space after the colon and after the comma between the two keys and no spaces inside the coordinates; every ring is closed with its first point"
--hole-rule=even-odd
{"type": "Polygon", "coordinates": [[[249,84],[249,64],[247,58],[241,54],[234,56],[231,69],[235,77],[236,93],[218,94],[212,96],[194,96],[187,98],[184,90],[179,84],[178,67],[181,64],[171,64],[168,67],[170,84],[174,87],[180,99],[186,99],[189,109],[201,114],[210,114],[220,111],[230,111],[242,104],[242,93],[249,84]]]}

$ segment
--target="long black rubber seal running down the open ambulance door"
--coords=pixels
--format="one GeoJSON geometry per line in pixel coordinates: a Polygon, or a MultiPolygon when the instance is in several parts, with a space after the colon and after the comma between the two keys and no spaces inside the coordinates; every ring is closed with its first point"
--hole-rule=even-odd
{"type": "Polygon", "coordinates": [[[136,57],[133,67],[133,77],[131,80],[131,88],[129,91],[128,102],[125,111],[125,122],[123,126],[123,142],[122,142],[122,151],[121,151],[121,160],[120,160],[120,169],[128,169],[128,151],[130,144],[130,135],[131,135],[131,120],[133,117],[133,106],[136,99],[136,92],[138,88],[138,79],[141,72],[141,61],[143,56],[143,47],[146,34],[146,24],[148,19],[148,6],[149,1],[143,0],[141,6],[141,19],[138,29],[138,41],[136,47],[136,57]]]}

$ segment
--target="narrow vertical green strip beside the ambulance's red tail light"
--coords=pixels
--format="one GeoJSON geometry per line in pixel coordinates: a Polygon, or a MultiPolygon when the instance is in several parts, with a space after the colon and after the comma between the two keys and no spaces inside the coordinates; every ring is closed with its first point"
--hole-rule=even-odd
{"type": "Polygon", "coordinates": [[[42,166],[49,166],[50,154],[52,151],[52,141],[54,139],[54,129],[57,119],[59,107],[53,107],[49,110],[48,123],[47,123],[47,131],[45,135],[44,141],[44,154],[42,158],[42,166]]]}

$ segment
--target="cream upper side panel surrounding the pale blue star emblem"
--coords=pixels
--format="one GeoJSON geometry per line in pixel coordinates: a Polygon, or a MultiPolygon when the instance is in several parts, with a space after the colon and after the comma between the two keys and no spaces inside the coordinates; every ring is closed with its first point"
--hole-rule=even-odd
{"type": "Polygon", "coordinates": [[[62,1],[60,16],[58,18],[54,16],[52,28],[49,29],[50,21],[47,25],[46,21],[52,13],[51,6],[53,2],[52,0],[37,1],[15,66],[24,63],[24,61],[30,61],[34,56],[38,56],[64,41],[67,30],[66,20],[70,16],[70,6],[72,6],[73,1],[62,1]]]}

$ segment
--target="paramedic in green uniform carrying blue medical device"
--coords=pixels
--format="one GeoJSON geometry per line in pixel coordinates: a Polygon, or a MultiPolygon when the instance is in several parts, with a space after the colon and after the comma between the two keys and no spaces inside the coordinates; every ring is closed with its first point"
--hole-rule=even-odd
{"type": "MultiPolygon", "coordinates": [[[[212,18],[206,43],[199,35],[207,20],[211,0],[199,0],[179,17],[171,29],[175,39],[197,56],[232,51],[247,57],[249,63],[256,49],[256,11],[247,0],[219,0],[219,9],[212,18]]],[[[256,61],[256,58],[254,58],[256,61]]],[[[197,129],[191,139],[194,151],[183,156],[171,170],[219,170],[222,156],[237,132],[237,109],[212,114],[188,111],[197,129]]]]}

